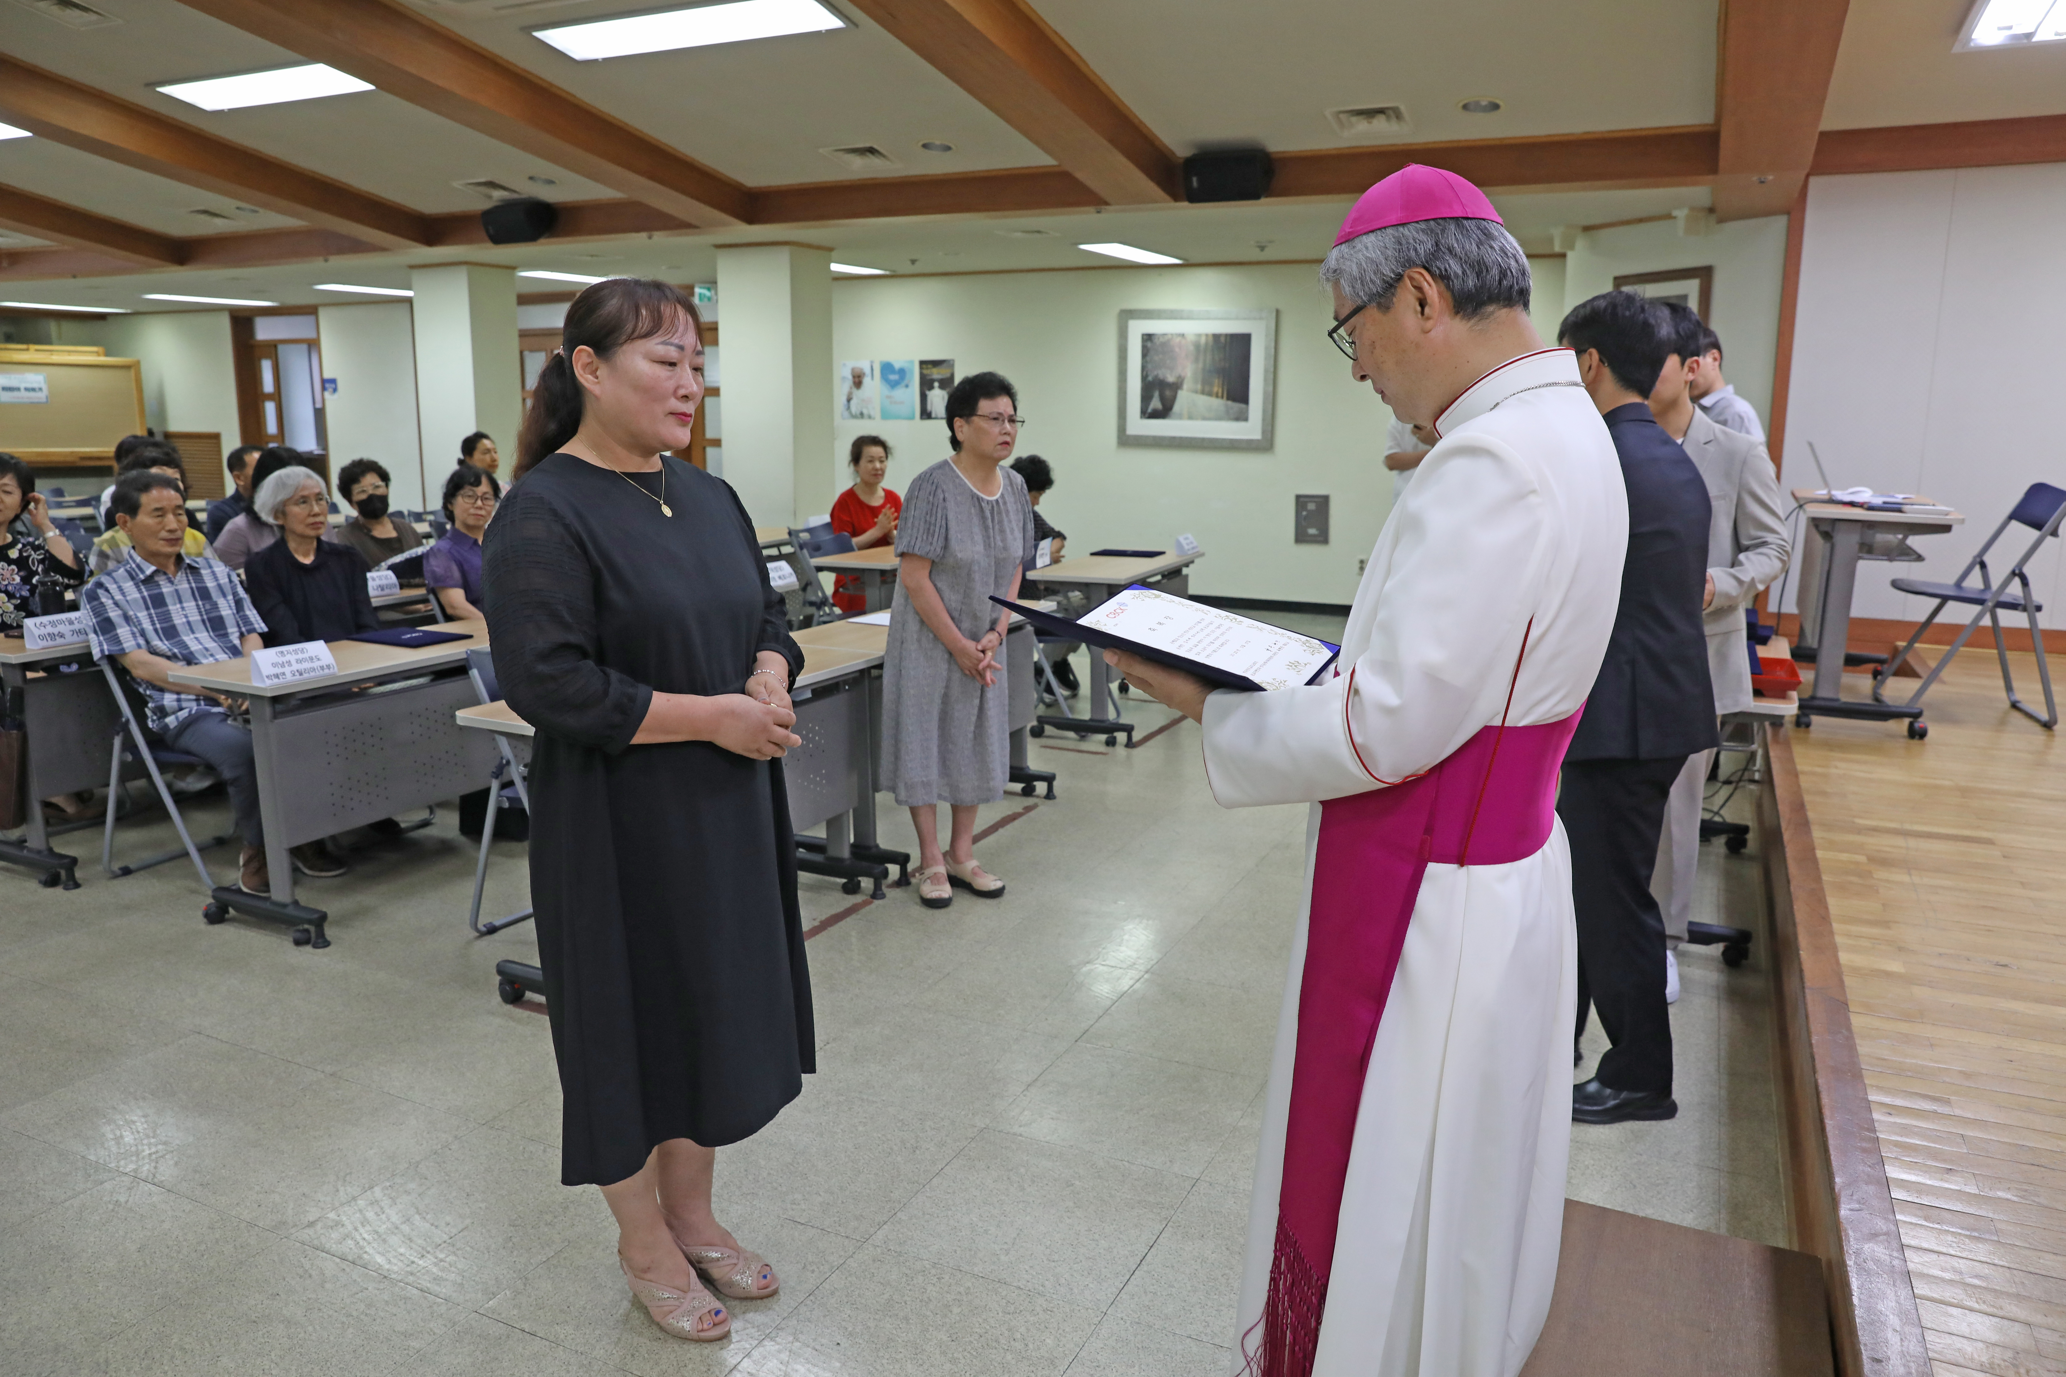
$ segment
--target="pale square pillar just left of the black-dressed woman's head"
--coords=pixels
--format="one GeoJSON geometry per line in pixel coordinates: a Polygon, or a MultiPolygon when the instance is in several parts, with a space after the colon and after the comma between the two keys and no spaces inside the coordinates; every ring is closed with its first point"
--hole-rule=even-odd
{"type": "Polygon", "coordinates": [[[516,270],[479,262],[409,268],[415,291],[415,415],[424,446],[424,502],[436,506],[459,442],[483,429],[502,450],[502,479],[523,423],[516,349],[516,270]]]}

